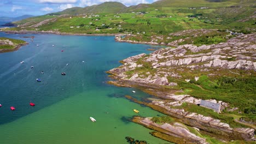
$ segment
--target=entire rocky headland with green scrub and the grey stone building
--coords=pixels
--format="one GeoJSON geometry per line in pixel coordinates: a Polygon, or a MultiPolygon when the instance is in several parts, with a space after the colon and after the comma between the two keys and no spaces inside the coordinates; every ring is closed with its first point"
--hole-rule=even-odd
{"type": "Polygon", "coordinates": [[[218,137],[219,143],[255,141],[255,41],[252,33],[225,43],[185,44],[142,53],[109,70],[115,79],[109,83],[136,87],[158,98],[147,103],[126,96],[174,119],[133,118],[158,131],[152,135],[161,139],[176,143],[217,139],[205,136],[209,135],[218,137]]]}

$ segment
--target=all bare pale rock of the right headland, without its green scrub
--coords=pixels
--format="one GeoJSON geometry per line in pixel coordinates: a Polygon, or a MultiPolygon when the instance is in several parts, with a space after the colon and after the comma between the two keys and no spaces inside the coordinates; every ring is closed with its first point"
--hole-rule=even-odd
{"type": "MultiPolygon", "coordinates": [[[[237,107],[230,107],[229,103],[222,100],[199,99],[186,94],[175,94],[183,92],[183,89],[169,88],[178,86],[177,81],[198,81],[201,75],[209,77],[243,77],[249,75],[254,77],[256,71],[255,41],[256,33],[253,33],[229,39],[226,43],[201,46],[186,44],[175,48],[156,50],[149,55],[142,53],[124,59],[121,61],[123,65],[109,70],[110,77],[116,80],[109,83],[117,86],[141,88],[145,92],[158,96],[161,99],[153,100],[145,105],[178,118],[179,122],[196,127],[220,140],[253,141],[255,140],[255,130],[253,129],[255,127],[231,128],[228,123],[223,123],[219,119],[188,112],[184,109],[176,109],[176,106],[181,106],[184,103],[200,105],[202,100],[219,105],[219,112],[224,109],[234,111],[238,109],[237,107]]],[[[168,123],[155,124],[150,121],[150,118],[136,118],[136,122],[146,127],[150,125],[152,129],[165,129],[169,131],[165,133],[167,135],[178,135],[178,137],[188,139],[185,137],[188,136],[187,134],[183,134],[183,136],[177,133],[170,134],[168,129],[172,127],[174,129],[174,126],[170,126],[168,123]]],[[[205,143],[203,139],[194,141],[190,138],[190,142],[205,143]]]]}

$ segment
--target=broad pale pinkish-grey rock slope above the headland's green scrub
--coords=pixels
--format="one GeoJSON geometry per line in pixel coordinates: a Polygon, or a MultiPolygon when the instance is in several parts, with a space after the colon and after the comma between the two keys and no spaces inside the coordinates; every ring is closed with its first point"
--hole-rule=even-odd
{"type": "Polygon", "coordinates": [[[177,70],[180,71],[180,73],[182,73],[184,69],[190,70],[191,73],[193,73],[195,69],[200,69],[201,71],[212,70],[211,75],[219,75],[219,69],[256,71],[255,37],[256,33],[247,36],[241,35],[229,40],[228,43],[202,46],[191,44],[180,45],[174,49],[165,48],[154,51],[147,57],[146,53],[142,53],[124,59],[124,65],[110,71],[117,74],[118,77],[125,76],[122,77],[123,80],[164,86],[176,85],[176,83],[169,81],[167,77],[181,78],[182,76],[176,73],[177,70]],[[235,40],[240,42],[234,43],[235,40]],[[205,51],[207,52],[205,53],[205,51]],[[138,61],[140,62],[138,63],[138,61]],[[145,75],[137,73],[136,75],[130,75],[130,78],[127,77],[127,71],[141,68],[144,66],[144,63],[151,65],[151,69],[155,69],[154,74],[145,75]],[[164,75],[162,74],[163,71],[165,71],[164,75]],[[168,73],[166,73],[166,71],[168,71],[168,73]]]}

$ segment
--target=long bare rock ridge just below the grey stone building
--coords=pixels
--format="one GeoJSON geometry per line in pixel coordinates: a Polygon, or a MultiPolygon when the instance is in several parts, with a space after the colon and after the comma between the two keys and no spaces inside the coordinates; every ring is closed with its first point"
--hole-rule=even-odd
{"type": "MultiPolygon", "coordinates": [[[[172,95],[168,96],[169,98],[176,98],[179,101],[173,101],[173,102],[166,102],[166,101],[152,101],[152,104],[160,106],[164,109],[166,109],[169,113],[169,115],[173,117],[177,117],[179,119],[182,119],[185,123],[188,123],[190,125],[194,125],[197,128],[201,128],[203,130],[208,130],[206,127],[214,128],[216,130],[225,131],[226,134],[230,136],[238,136],[233,137],[234,139],[245,139],[245,140],[252,140],[254,136],[254,129],[250,128],[230,128],[229,124],[220,122],[219,119],[214,119],[212,117],[206,117],[202,116],[197,113],[193,112],[185,112],[183,109],[174,109],[170,106],[179,106],[181,105],[182,99],[190,98],[187,95],[172,95]]],[[[216,101],[216,100],[208,100],[208,101],[216,101]]],[[[217,101],[216,101],[217,103],[217,101]]],[[[222,103],[219,101],[219,103],[222,103]]]]}

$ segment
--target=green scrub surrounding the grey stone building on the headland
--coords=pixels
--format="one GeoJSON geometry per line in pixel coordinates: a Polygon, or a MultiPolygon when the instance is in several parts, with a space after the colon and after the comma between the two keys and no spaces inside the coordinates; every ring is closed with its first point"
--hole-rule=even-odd
{"type": "MultiPolygon", "coordinates": [[[[256,121],[256,78],[250,77],[208,77],[200,76],[198,81],[191,80],[190,82],[178,81],[179,88],[184,89],[185,94],[190,94],[192,97],[200,99],[216,99],[222,100],[230,104],[230,107],[238,107],[239,111],[224,112],[235,113],[247,117],[247,120],[256,121]],[[238,112],[242,112],[239,114],[238,112]]],[[[187,104],[184,104],[187,105],[187,104]]],[[[227,122],[233,127],[234,123],[231,117],[226,117],[222,114],[206,110],[196,105],[182,106],[190,112],[200,113],[204,116],[212,116],[227,122]],[[188,108],[189,107],[189,108],[188,108]]],[[[239,126],[239,125],[237,125],[239,126]]]]}

